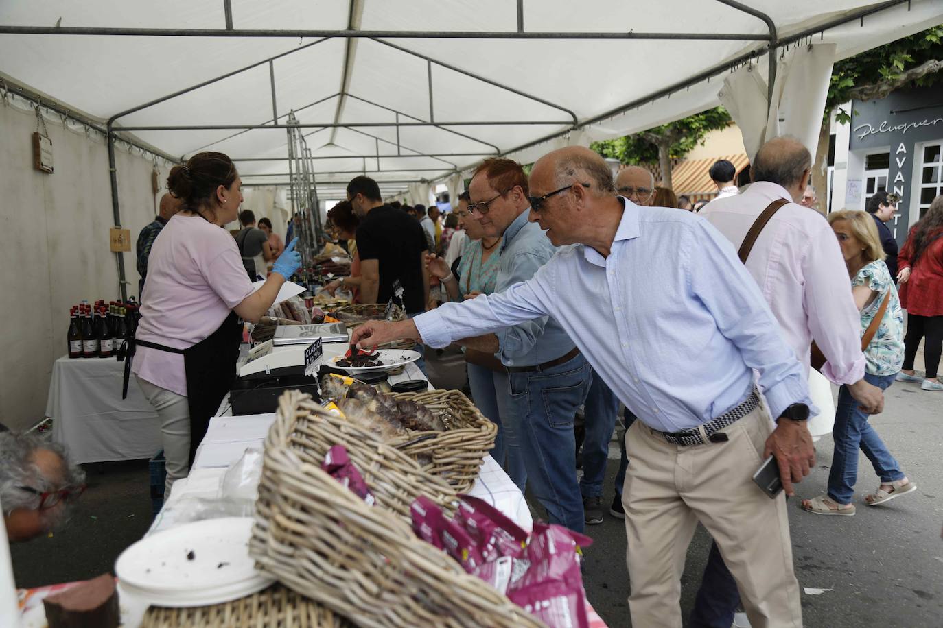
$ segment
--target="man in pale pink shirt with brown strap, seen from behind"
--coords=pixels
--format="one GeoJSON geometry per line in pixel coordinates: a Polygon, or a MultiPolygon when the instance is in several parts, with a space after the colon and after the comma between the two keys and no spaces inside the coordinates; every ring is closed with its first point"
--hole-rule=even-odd
{"type": "MultiPolygon", "coordinates": [[[[747,270],[759,284],[806,373],[814,338],[828,359],[822,375],[847,386],[863,408],[878,413],[884,409],[884,393],[864,379],[860,314],[835,233],[819,212],[799,204],[811,168],[812,156],[798,140],[774,137],[753,159],[753,185],[742,194],[711,201],[701,216],[739,249],[753,221],[769,203],[792,201],[770,218],[756,238],[747,270]]],[[[734,621],[737,604],[736,582],[714,543],[690,625],[726,628],[734,621]]]]}

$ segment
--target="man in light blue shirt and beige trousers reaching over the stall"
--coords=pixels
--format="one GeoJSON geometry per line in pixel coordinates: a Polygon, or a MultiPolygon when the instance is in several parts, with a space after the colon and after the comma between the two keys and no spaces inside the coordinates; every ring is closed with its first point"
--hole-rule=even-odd
{"type": "MultiPolygon", "coordinates": [[[[716,229],[614,196],[602,159],[578,147],[531,174],[531,219],[561,249],[527,282],[413,321],[371,322],[362,346],[432,346],[550,315],[638,417],[622,504],[629,606],[638,626],[682,625],[680,577],[698,521],[717,540],[754,627],[802,626],[786,501],[753,472],[770,454],[787,494],[815,463],[811,400],[753,278],[716,229]],[[754,375],[772,416],[758,405],[754,375]]],[[[814,410],[814,409],[813,409],[814,410]]]]}

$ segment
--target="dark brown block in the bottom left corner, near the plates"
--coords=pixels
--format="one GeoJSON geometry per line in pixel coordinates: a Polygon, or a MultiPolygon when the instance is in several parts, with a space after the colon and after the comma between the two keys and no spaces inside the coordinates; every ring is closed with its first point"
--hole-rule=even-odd
{"type": "Polygon", "coordinates": [[[42,604],[49,628],[116,628],[121,620],[118,590],[110,573],[48,595],[42,604]]]}

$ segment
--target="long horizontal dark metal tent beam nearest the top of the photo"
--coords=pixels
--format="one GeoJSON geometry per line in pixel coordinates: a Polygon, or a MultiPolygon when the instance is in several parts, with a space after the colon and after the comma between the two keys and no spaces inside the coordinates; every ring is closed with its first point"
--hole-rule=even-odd
{"type": "Polygon", "coordinates": [[[124,35],[130,37],[264,37],[264,38],[384,38],[406,40],[708,40],[769,41],[753,33],[554,33],[517,31],[428,30],[287,30],[256,28],[125,28],[85,26],[0,25],[0,35],[124,35]]]}

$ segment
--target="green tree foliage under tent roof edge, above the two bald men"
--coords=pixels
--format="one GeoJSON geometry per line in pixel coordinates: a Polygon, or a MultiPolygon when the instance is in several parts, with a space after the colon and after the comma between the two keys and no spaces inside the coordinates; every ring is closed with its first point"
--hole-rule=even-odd
{"type": "Polygon", "coordinates": [[[729,122],[730,114],[719,106],[631,136],[593,142],[589,148],[623,164],[650,164],[658,161],[660,145],[667,144],[671,159],[680,158],[703,144],[709,132],[722,129],[729,122]]]}

